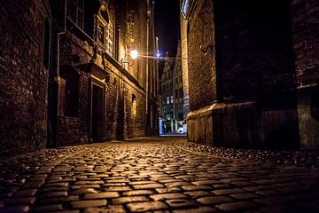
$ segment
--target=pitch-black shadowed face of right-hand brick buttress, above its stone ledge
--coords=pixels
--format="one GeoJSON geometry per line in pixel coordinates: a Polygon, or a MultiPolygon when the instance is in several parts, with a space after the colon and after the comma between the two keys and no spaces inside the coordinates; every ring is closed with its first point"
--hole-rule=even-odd
{"type": "Polygon", "coordinates": [[[289,0],[214,1],[219,99],[256,99],[295,87],[290,11],[289,0]]]}

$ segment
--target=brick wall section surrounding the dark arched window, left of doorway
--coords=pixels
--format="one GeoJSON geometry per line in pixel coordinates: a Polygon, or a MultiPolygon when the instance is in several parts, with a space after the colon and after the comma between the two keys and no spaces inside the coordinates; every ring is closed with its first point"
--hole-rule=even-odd
{"type": "MultiPolygon", "coordinates": [[[[77,67],[89,63],[92,47],[76,36],[67,33],[60,36],[59,72],[76,72],[79,75],[79,104],[77,115],[58,113],[57,145],[74,145],[89,142],[89,72],[77,67]],[[78,58],[77,58],[78,57],[78,58]]],[[[60,74],[61,75],[61,74],[60,74]]],[[[61,90],[61,88],[59,89],[61,90]]],[[[61,98],[59,98],[58,103],[61,98]]],[[[63,107],[63,106],[58,106],[63,107]]]]}

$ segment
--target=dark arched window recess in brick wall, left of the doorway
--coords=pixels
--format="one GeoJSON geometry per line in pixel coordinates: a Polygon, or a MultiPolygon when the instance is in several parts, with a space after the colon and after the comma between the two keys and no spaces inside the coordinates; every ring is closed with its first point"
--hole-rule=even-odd
{"type": "Polygon", "coordinates": [[[79,74],[71,67],[61,68],[59,90],[59,115],[76,117],[79,104],[79,74]]]}

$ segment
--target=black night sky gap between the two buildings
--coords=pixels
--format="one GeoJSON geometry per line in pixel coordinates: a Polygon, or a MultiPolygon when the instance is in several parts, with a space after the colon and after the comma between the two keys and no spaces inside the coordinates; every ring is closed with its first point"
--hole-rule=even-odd
{"type": "Polygon", "coordinates": [[[179,0],[155,0],[155,36],[159,37],[159,52],[175,57],[180,37],[179,0]]]}

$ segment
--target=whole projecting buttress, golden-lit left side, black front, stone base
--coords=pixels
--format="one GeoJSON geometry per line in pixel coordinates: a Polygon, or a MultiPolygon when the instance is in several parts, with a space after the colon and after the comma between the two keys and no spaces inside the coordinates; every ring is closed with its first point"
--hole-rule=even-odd
{"type": "Polygon", "coordinates": [[[187,39],[189,140],[300,146],[290,1],[198,2],[187,39]]]}

